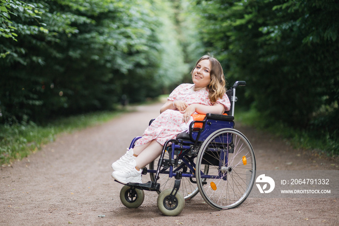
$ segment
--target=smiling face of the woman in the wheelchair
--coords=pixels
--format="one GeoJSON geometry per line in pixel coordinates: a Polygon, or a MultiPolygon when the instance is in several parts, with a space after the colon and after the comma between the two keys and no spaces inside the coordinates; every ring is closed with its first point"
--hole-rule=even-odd
{"type": "Polygon", "coordinates": [[[211,82],[211,62],[208,59],[201,60],[192,72],[192,81],[195,87],[206,87],[211,82]]]}

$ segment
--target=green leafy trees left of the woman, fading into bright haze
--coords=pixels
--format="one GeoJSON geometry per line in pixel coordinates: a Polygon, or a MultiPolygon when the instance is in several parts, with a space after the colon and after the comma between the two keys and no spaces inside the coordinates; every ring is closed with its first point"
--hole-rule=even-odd
{"type": "Polygon", "coordinates": [[[170,1],[0,2],[1,123],[110,110],[123,95],[156,97],[188,71],[176,30],[166,35],[170,1]]]}

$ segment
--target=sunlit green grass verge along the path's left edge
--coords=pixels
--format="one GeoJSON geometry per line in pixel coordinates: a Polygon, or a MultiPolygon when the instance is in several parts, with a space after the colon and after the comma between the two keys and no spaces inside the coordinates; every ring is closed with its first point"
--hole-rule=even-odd
{"type": "Polygon", "coordinates": [[[21,160],[42,145],[53,142],[61,133],[71,133],[78,129],[98,125],[116,117],[123,111],[81,114],[55,120],[46,126],[35,123],[0,125],[0,165],[11,165],[21,160]]]}

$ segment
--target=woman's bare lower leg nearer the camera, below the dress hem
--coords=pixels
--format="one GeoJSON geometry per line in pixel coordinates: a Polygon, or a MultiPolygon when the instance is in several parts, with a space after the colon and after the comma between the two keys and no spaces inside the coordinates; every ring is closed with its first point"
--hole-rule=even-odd
{"type": "MultiPolygon", "coordinates": [[[[137,148],[140,147],[140,149],[142,149],[142,151],[139,152],[139,155],[136,154],[135,151],[136,147],[133,148],[134,153],[138,155],[135,161],[139,169],[144,168],[147,164],[155,160],[161,154],[163,147],[163,145],[160,145],[156,140],[153,140],[145,145],[147,146],[146,147],[142,147],[144,145],[137,146],[137,148]]],[[[137,151],[139,151],[139,148],[137,149],[137,151]]]]}

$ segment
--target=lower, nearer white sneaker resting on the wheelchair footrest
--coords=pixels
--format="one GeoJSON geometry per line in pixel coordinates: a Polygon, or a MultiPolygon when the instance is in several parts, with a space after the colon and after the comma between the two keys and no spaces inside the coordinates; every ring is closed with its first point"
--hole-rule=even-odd
{"type": "Polygon", "coordinates": [[[135,168],[137,165],[135,160],[132,160],[128,165],[125,165],[124,168],[122,168],[119,171],[114,171],[112,173],[112,178],[116,179],[120,183],[127,184],[127,183],[142,183],[141,180],[141,172],[135,168]]]}

